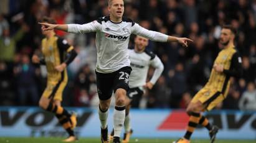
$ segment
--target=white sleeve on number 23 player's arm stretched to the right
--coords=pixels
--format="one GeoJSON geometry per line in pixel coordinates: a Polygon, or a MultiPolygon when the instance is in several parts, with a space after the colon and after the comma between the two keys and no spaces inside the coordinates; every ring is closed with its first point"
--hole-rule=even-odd
{"type": "Polygon", "coordinates": [[[136,23],[131,27],[131,33],[135,35],[140,35],[142,37],[146,37],[147,39],[150,39],[156,42],[167,42],[168,40],[168,35],[145,29],[136,23]]]}

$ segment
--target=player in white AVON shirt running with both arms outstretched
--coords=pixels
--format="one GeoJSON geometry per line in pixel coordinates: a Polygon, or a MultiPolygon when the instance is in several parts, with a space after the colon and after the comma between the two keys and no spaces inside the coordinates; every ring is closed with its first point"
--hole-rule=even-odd
{"type": "Polygon", "coordinates": [[[141,35],[158,42],[178,42],[187,47],[187,38],[172,37],[159,32],[147,30],[131,19],[123,17],[123,0],[109,0],[108,11],[110,16],[105,16],[97,21],[87,24],[48,24],[44,25],[45,31],[59,29],[73,33],[96,32],[97,47],[97,88],[100,104],[98,114],[101,122],[101,140],[108,141],[108,108],[110,106],[111,94],[115,93],[114,111],[114,139],[120,142],[120,133],[125,121],[125,98],[129,86],[129,75],[131,73],[128,54],[128,43],[131,34],[141,35]]]}

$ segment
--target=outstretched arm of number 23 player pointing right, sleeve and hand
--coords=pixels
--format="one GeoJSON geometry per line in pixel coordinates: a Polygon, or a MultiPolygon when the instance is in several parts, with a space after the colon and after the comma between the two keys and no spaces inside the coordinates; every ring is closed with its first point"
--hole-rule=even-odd
{"type": "Polygon", "coordinates": [[[136,23],[132,26],[131,33],[157,42],[178,42],[184,47],[187,47],[187,42],[193,42],[191,39],[169,36],[160,32],[145,29],[136,23]]]}

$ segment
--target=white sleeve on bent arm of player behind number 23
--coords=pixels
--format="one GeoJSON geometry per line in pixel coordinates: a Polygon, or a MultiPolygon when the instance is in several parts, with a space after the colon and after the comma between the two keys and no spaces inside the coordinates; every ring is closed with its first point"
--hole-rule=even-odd
{"type": "Polygon", "coordinates": [[[155,84],[156,81],[158,81],[158,78],[160,77],[160,75],[163,73],[164,65],[158,56],[154,57],[153,60],[151,60],[150,65],[155,68],[154,74],[150,82],[155,84]]]}

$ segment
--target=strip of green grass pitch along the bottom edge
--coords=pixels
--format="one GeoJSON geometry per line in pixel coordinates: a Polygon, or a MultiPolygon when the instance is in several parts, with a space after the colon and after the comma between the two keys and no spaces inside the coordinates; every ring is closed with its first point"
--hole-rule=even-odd
{"type": "MultiPolygon", "coordinates": [[[[39,137],[39,138],[33,138],[33,137],[0,137],[1,143],[60,143],[62,142],[62,139],[59,137],[39,137]]],[[[130,140],[130,143],[171,143],[174,139],[134,139],[132,138],[130,140]]],[[[96,138],[81,138],[79,141],[76,141],[77,143],[100,143],[100,139],[96,138]]],[[[252,140],[216,140],[215,143],[250,143],[250,142],[256,142],[252,140]]],[[[63,142],[62,142],[63,143],[63,142]]],[[[197,140],[194,139],[191,141],[191,143],[209,143],[209,140],[197,140]]]]}

